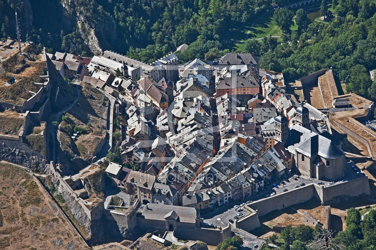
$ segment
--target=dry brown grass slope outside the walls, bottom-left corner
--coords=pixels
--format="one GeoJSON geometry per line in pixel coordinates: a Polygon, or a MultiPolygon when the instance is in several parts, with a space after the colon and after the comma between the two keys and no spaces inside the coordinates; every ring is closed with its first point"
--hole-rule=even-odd
{"type": "Polygon", "coordinates": [[[23,169],[0,163],[0,249],[85,249],[55,202],[23,169]],[[22,209],[21,209],[22,204],[22,209]],[[0,216],[1,217],[1,216],[0,216]],[[0,219],[1,222],[1,219],[0,219]],[[73,248],[72,248],[73,246],[73,248]]]}

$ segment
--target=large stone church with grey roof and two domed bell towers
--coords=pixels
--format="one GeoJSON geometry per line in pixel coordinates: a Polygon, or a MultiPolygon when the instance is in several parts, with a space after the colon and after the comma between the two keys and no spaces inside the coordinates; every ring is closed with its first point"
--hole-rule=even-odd
{"type": "Polygon", "coordinates": [[[328,132],[311,131],[309,110],[303,102],[296,109],[296,124],[288,127],[282,112],[274,119],[275,140],[291,154],[297,174],[317,180],[333,181],[345,174],[345,154],[341,142],[328,132]]]}

